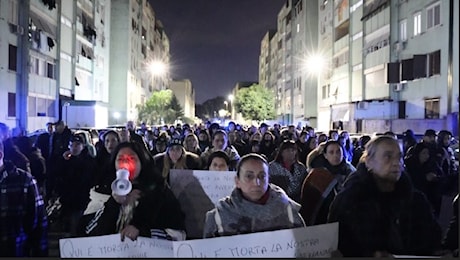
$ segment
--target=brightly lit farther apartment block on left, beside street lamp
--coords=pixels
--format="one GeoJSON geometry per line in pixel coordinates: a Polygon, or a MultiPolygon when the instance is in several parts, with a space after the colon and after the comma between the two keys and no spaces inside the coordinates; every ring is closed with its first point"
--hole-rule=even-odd
{"type": "Polygon", "coordinates": [[[137,105],[166,89],[169,75],[154,75],[154,61],[169,63],[169,39],[147,0],[112,0],[109,124],[137,119],[137,105]]]}

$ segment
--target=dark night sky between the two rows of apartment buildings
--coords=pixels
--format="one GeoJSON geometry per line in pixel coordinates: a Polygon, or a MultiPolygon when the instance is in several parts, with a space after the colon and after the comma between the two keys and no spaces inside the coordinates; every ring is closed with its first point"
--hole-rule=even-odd
{"type": "Polygon", "coordinates": [[[190,79],[195,102],[258,81],[260,42],[285,0],[149,0],[169,37],[171,77],[190,79]]]}

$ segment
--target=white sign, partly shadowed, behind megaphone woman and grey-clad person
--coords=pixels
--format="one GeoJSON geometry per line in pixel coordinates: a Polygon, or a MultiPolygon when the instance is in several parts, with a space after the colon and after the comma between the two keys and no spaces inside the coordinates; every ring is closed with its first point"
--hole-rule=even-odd
{"type": "Polygon", "coordinates": [[[185,213],[188,238],[202,238],[206,212],[231,194],[235,186],[234,171],[171,170],[169,183],[185,213]]]}

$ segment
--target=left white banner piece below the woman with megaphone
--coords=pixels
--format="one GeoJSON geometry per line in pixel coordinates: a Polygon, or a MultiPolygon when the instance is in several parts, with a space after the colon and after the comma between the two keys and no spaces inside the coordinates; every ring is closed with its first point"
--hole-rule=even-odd
{"type": "Polygon", "coordinates": [[[61,258],[173,257],[172,241],[138,237],[121,242],[120,234],[60,239],[59,250],[61,258]]]}

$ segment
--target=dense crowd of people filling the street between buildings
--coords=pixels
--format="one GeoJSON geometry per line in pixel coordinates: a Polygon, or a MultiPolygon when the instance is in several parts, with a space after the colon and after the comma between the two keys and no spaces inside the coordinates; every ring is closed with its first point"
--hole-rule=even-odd
{"type": "Polygon", "coordinates": [[[46,256],[49,225],[64,237],[187,239],[172,169],[236,172],[203,216],[203,238],[339,222],[343,256],[458,255],[458,195],[449,228],[439,225],[442,197],[458,194],[447,130],[417,141],[409,129],[400,143],[392,132],[353,140],[309,126],[129,121],[92,144],[62,120],[46,129],[31,142],[0,123],[0,256],[46,256]],[[111,186],[120,169],[125,195],[111,186]]]}

